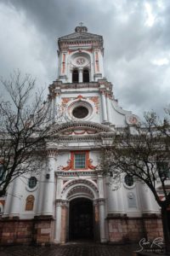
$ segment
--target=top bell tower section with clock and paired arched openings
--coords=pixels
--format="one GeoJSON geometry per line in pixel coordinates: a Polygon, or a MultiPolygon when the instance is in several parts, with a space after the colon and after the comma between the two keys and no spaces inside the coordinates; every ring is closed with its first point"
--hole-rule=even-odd
{"type": "Polygon", "coordinates": [[[77,26],[75,32],[59,38],[59,80],[63,83],[94,82],[104,78],[103,38],[77,26]]]}

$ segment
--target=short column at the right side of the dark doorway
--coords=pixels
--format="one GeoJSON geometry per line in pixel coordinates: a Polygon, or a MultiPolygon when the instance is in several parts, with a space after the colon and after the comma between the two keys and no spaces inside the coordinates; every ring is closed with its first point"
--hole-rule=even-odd
{"type": "Polygon", "coordinates": [[[106,242],[105,236],[105,199],[99,198],[99,231],[100,231],[100,242],[106,242]]]}

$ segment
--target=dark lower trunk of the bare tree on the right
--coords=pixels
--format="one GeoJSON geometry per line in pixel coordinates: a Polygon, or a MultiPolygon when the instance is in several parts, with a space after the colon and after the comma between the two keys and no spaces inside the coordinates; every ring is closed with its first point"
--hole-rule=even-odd
{"type": "Polygon", "coordinates": [[[165,250],[166,250],[166,253],[170,253],[170,230],[168,227],[167,207],[161,207],[161,219],[162,219],[162,225],[163,225],[165,250]]]}

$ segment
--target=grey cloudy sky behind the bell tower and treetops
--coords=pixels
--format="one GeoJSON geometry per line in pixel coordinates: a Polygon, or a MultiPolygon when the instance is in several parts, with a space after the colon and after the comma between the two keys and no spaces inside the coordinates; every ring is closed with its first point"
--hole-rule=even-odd
{"type": "Polygon", "coordinates": [[[57,38],[81,21],[104,38],[105,77],[119,105],[161,115],[170,102],[169,0],[0,0],[0,75],[19,68],[48,88],[57,38]]]}

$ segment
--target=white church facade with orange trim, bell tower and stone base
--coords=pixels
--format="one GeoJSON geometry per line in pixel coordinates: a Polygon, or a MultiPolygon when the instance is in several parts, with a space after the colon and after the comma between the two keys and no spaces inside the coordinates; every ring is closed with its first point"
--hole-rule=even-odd
{"type": "Polygon", "coordinates": [[[162,236],[150,189],[101,174],[101,148],[139,122],[119,107],[105,79],[103,38],[86,26],[59,38],[58,79],[49,85],[53,135],[41,172],[14,180],[0,198],[2,243],[139,241],[162,236]]]}

